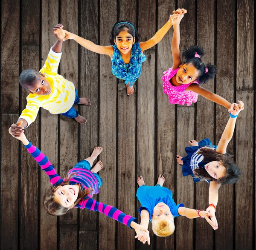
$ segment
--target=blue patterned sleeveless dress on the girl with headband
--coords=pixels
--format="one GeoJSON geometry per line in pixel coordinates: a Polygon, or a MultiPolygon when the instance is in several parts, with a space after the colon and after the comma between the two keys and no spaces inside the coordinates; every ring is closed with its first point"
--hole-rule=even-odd
{"type": "Polygon", "coordinates": [[[134,43],[131,48],[131,60],[128,64],[124,62],[116,45],[111,45],[114,48],[114,53],[111,58],[112,73],[115,77],[125,80],[125,84],[131,87],[134,82],[140,77],[142,63],[146,57],[142,54],[140,44],[134,43]]]}

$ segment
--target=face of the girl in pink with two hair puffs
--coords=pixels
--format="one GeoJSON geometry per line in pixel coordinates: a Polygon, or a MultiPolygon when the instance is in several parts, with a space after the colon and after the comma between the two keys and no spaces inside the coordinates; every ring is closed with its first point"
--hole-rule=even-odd
{"type": "Polygon", "coordinates": [[[194,82],[199,74],[200,72],[192,63],[182,64],[177,71],[176,81],[180,84],[189,84],[190,82],[194,82]]]}

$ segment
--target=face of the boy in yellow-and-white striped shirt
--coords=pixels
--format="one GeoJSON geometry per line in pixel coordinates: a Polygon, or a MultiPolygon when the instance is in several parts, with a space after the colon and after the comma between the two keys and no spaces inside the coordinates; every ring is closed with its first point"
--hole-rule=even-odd
{"type": "Polygon", "coordinates": [[[49,95],[52,93],[52,89],[50,87],[49,82],[41,74],[37,74],[33,84],[27,87],[27,91],[30,94],[37,94],[37,95],[49,95]]]}

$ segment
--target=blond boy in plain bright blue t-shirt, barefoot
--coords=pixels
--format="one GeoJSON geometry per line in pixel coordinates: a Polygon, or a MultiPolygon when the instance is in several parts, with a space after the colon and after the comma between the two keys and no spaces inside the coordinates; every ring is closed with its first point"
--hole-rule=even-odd
{"type": "MultiPolygon", "coordinates": [[[[141,204],[139,213],[140,224],[143,227],[148,228],[148,223],[152,222],[152,230],[156,236],[169,236],[175,230],[174,217],[177,216],[186,216],[189,219],[205,218],[214,227],[209,218],[212,217],[212,214],[204,210],[186,208],[182,203],[176,205],[172,199],[172,191],[163,187],[164,182],[165,178],[161,175],[159,175],[155,186],[146,186],[142,176],[137,179],[140,188],[138,188],[136,196],[141,204]]],[[[150,244],[148,234],[137,238],[143,241],[143,244],[146,241],[150,244]]]]}

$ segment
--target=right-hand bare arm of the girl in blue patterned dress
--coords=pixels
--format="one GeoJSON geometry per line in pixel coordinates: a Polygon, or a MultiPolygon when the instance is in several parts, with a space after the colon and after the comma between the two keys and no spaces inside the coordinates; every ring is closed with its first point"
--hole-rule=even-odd
{"type": "MultiPolygon", "coordinates": [[[[186,13],[186,10],[182,9],[182,10],[180,10],[179,14],[170,15],[167,23],[162,28],[160,28],[159,31],[157,31],[157,33],[154,35],[154,37],[152,37],[148,41],[140,43],[140,48],[141,48],[142,52],[153,47],[157,43],[159,43],[163,39],[163,37],[165,36],[167,31],[169,31],[169,29],[172,27],[172,25],[175,22],[175,19],[177,19],[177,17],[179,17],[179,15],[182,15],[182,17],[183,17],[185,13],[186,13]]],[[[181,19],[182,19],[182,17],[181,17],[181,19]]]]}

